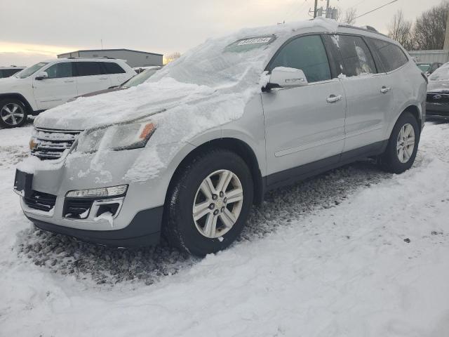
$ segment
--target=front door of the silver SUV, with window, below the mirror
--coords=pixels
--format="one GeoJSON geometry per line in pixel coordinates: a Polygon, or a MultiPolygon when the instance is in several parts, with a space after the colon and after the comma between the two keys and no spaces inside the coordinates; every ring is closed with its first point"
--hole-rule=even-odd
{"type": "Polygon", "coordinates": [[[275,67],[300,69],[309,83],[262,93],[267,185],[337,163],[344,145],[344,91],[330,71],[321,37],[291,39],[268,70],[275,67]]]}

